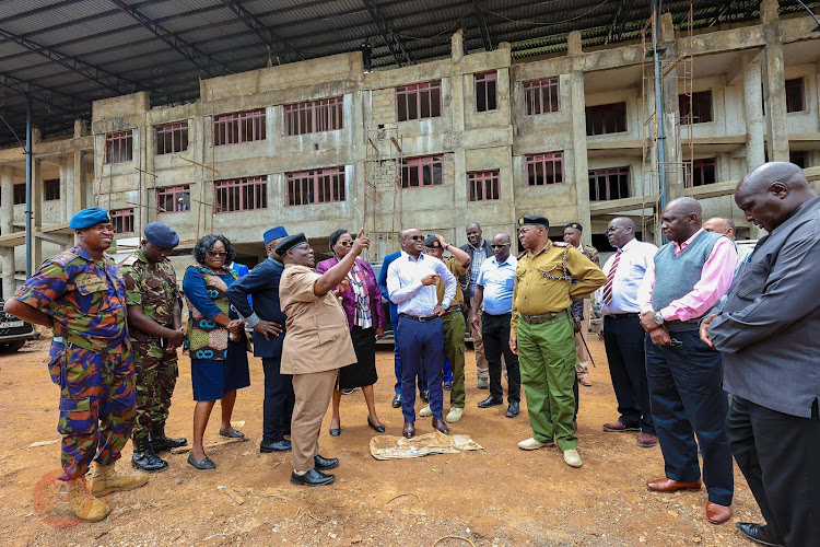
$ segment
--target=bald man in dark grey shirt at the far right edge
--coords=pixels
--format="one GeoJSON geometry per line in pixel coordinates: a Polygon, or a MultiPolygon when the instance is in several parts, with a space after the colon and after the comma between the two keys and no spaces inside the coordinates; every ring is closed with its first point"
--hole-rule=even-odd
{"type": "Polygon", "coordinates": [[[772,162],[735,202],[769,235],[701,337],[723,353],[726,434],[766,521],[737,527],[764,545],[820,545],[820,198],[800,167],[772,162]]]}

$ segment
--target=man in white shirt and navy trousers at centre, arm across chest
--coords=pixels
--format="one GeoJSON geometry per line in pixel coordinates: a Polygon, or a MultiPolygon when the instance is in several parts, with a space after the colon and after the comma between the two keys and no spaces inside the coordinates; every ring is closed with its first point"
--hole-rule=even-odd
{"type": "Polygon", "coordinates": [[[403,435],[415,434],[415,376],[423,365],[433,428],[449,434],[443,419],[442,366],[444,365],[444,325],[442,315],[456,298],[456,278],[442,260],[426,256],[424,236],[414,228],[399,233],[401,256],[387,270],[387,292],[398,305],[399,351],[401,353],[401,412],[403,435]],[[438,304],[435,286],[444,281],[444,299],[438,304]]]}

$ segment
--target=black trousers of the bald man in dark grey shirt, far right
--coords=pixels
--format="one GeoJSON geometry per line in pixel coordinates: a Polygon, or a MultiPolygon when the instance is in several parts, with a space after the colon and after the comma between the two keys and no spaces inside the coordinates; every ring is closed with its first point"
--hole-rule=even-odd
{"type": "Polygon", "coordinates": [[[817,399],[811,418],[800,418],[733,395],[726,437],[766,529],[788,547],[820,545],[817,399]]]}

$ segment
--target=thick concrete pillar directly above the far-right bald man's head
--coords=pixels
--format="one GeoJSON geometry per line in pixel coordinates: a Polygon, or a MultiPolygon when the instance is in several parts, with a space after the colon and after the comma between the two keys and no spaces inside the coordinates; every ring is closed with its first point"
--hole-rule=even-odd
{"type": "Polygon", "coordinates": [[[787,162],[786,77],[776,0],[764,0],[761,3],[761,20],[766,43],[762,55],[766,151],[770,162],[787,162]]]}

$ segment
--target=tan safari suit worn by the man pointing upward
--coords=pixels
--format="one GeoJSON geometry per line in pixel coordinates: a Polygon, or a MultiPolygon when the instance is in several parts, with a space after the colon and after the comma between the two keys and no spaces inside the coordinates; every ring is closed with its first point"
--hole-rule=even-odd
{"type": "Polygon", "coordinates": [[[282,346],[282,374],[293,374],[296,404],[291,422],[293,468],[308,472],[319,453],[319,430],[333,393],[338,369],[356,362],[348,318],[332,292],[317,296],[321,276],[306,266],[288,264],[279,300],[288,316],[282,346]]]}

